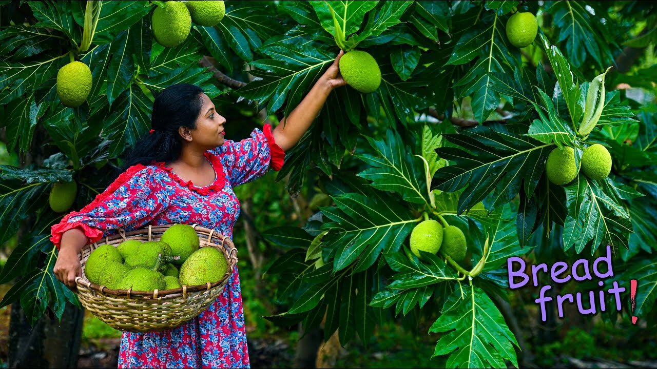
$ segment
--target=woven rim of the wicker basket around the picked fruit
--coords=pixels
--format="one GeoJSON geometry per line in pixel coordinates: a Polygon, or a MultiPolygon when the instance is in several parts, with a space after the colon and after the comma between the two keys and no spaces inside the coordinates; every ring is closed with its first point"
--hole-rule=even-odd
{"type": "MultiPolygon", "coordinates": [[[[168,225],[148,225],[148,227],[143,227],[135,230],[130,230],[128,232],[125,232],[124,228],[116,228],[118,230],[117,234],[112,234],[112,236],[105,236],[104,238],[104,243],[102,244],[109,244],[110,241],[114,241],[118,238],[123,238],[126,240],[126,237],[131,237],[139,234],[144,234],[147,232],[148,238],[150,239],[152,237],[152,233],[164,233],[164,230],[166,228],[170,228],[173,225],[177,224],[185,224],[185,223],[173,223],[173,224],[168,224],[168,225]]],[[[223,274],[223,277],[221,279],[217,280],[217,282],[210,283],[206,282],[206,284],[199,284],[196,286],[182,286],[179,288],[173,288],[171,290],[153,290],[152,292],[150,291],[133,291],[132,289],[129,290],[112,290],[111,288],[107,288],[106,286],[100,286],[98,284],[92,283],[89,280],[83,279],[81,276],[76,276],[76,285],[80,287],[85,287],[89,290],[93,290],[95,292],[102,293],[103,295],[112,295],[112,296],[118,296],[118,297],[127,297],[130,299],[131,297],[152,297],[152,298],[162,298],[167,295],[177,295],[179,293],[183,294],[183,297],[187,295],[189,292],[198,292],[198,291],[208,291],[212,288],[215,288],[225,282],[228,278],[230,278],[233,274],[233,271],[235,270],[235,266],[237,265],[237,248],[235,248],[235,244],[233,244],[233,241],[228,237],[224,236],[223,234],[217,232],[217,230],[211,229],[211,228],[206,228],[206,227],[200,227],[198,224],[193,224],[191,225],[194,230],[196,230],[196,233],[202,233],[202,234],[208,234],[208,243],[214,243],[215,245],[222,246],[222,252],[226,256],[226,261],[228,264],[228,269],[223,274]],[[213,239],[216,239],[217,241],[221,240],[221,242],[212,242],[213,239]],[[227,248],[223,247],[224,244],[227,244],[227,248]],[[234,255],[233,255],[234,254],[234,255]]],[[[102,244],[99,244],[102,240],[96,241],[96,242],[89,242],[88,244],[85,244],[78,253],[78,260],[82,261],[82,254],[85,249],[91,248],[93,245],[95,248],[98,246],[101,246],[102,244]]],[[[208,246],[206,246],[208,247],[208,246]]]]}

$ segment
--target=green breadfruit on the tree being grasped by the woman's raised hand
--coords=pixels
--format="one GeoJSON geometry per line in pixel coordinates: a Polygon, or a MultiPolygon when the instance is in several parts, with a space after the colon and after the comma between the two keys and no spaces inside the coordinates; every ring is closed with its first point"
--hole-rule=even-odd
{"type": "Polygon", "coordinates": [[[340,74],[344,81],[361,93],[371,93],[381,84],[381,70],[376,60],[365,51],[350,51],[340,58],[340,74]]]}

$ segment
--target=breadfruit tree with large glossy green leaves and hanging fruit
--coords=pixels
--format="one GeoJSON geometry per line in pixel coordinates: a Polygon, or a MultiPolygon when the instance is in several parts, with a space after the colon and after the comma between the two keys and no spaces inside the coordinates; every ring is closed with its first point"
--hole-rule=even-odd
{"type": "MultiPolygon", "coordinates": [[[[270,320],[323,324],[344,345],[367,344],[390,315],[434,314],[433,356],[447,366],[518,366],[493,303],[510,293],[507,258],[553,263],[606,245],[616,279],[647,286],[633,315],[649,319],[650,2],[200,3],[0,2],[3,140],[45,153],[0,165],[0,242],[22,230],[1,305],[20,299],[34,322],[77,303],[53,276],[50,226],[113,180],[160,91],[193,83],[235,121],[276,121],[342,49],[350,85],[277,175],[292,196],[317,186],[327,203],[305,227],[265,234],[286,250],[267,274],[288,310],[270,320]]],[[[630,313],[628,299],[604,318],[630,313]]]]}

